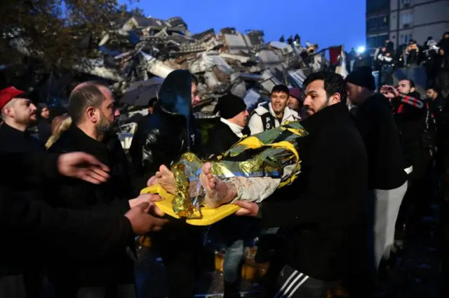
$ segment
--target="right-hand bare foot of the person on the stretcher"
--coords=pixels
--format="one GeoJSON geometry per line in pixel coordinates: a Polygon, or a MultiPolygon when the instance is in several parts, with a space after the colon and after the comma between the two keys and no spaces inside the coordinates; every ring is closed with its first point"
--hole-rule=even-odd
{"type": "Polygon", "coordinates": [[[210,162],[203,164],[199,179],[204,190],[206,190],[206,206],[217,208],[232,201],[236,197],[236,191],[229,187],[227,183],[215,178],[210,172],[210,166],[210,162]]]}

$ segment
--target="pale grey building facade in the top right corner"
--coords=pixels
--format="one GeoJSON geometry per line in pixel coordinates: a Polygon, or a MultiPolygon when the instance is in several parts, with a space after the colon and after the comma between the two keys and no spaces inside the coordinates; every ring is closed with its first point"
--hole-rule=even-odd
{"type": "Polygon", "coordinates": [[[448,0],[391,0],[389,36],[395,47],[410,39],[422,45],[429,36],[439,41],[445,31],[449,31],[448,0]]]}

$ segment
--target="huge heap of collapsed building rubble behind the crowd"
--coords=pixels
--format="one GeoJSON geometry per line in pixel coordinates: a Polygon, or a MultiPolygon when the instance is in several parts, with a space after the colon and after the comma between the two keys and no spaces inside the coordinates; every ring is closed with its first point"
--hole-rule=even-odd
{"type": "Polygon", "coordinates": [[[226,92],[243,97],[251,109],[267,99],[274,85],[302,87],[311,71],[332,67],[314,45],[265,43],[264,32],[258,30],[191,34],[180,17],[132,16],[112,25],[100,36],[96,58],[84,58],[74,69],[109,80],[119,94],[135,81],[189,69],[199,78],[199,117],[213,116],[215,99],[226,92]]]}

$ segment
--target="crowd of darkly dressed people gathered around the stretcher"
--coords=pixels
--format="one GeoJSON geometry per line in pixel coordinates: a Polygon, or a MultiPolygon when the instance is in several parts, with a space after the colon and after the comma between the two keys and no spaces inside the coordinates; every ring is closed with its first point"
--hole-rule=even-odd
{"type": "Polygon", "coordinates": [[[375,92],[370,67],[354,67],[346,78],[319,71],[303,90],[276,85],[252,113],[240,97],[220,97],[220,118],[203,140],[192,114],[197,85],[189,71],[167,76],[128,156],[116,135],[114,95],[102,83],[76,86],[69,115],[53,121],[26,92],[0,90],[0,297],[39,297],[43,275],[58,298],[137,297],[135,236],[149,232],[166,267],[168,297],[194,297],[203,229],[164,215],[158,195],[138,195],[170,176],[185,152],[204,159],[206,195],[240,207],[212,227],[226,247],[227,298],[240,297],[244,247],[254,235],[257,262],[270,262],[264,297],[327,297],[337,285],[350,297],[370,297],[437,191],[448,281],[449,106],[440,89],[429,87],[424,98],[405,78],[375,92]],[[36,121],[38,139],[27,130],[36,121]],[[295,139],[298,122],[307,136],[295,139]],[[236,186],[210,173],[209,160],[279,127],[289,133],[274,141],[291,141],[301,159],[282,188],[264,180],[258,185],[269,195],[243,199],[255,196],[254,177],[236,186]],[[434,176],[440,183],[430,183],[434,176]]]}

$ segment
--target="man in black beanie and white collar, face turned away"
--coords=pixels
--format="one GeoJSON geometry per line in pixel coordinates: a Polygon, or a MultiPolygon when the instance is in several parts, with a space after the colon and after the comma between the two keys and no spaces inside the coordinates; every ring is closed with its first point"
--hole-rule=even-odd
{"type": "MultiPolygon", "coordinates": [[[[214,113],[220,112],[220,122],[209,133],[207,151],[212,155],[220,155],[229,150],[244,135],[249,135],[246,126],[248,111],[246,104],[240,97],[227,94],[218,99],[214,113]]],[[[241,276],[241,262],[243,261],[244,243],[250,240],[252,218],[238,218],[229,216],[214,226],[223,236],[226,255],[223,262],[223,279],[225,280],[225,298],[240,297],[239,285],[241,276]]]]}

